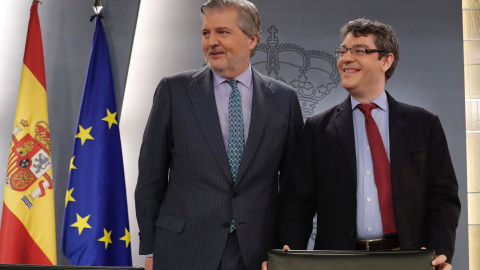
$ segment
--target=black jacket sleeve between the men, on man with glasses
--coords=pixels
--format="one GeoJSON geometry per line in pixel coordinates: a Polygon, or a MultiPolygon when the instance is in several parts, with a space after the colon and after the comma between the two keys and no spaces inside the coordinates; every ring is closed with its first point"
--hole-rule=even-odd
{"type": "Polygon", "coordinates": [[[307,119],[295,150],[292,168],[280,187],[280,246],[307,249],[315,215],[315,181],[311,118],[307,119]]]}

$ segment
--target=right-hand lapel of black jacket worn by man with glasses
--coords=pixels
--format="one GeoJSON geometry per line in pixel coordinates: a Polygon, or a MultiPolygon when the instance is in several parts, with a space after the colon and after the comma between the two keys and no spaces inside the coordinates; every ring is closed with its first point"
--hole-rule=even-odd
{"type": "Polygon", "coordinates": [[[405,156],[409,118],[403,114],[400,104],[388,93],[387,99],[389,107],[390,170],[392,174],[392,191],[395,191],[399,181],[398,176],[400,175],[403,157],[405,156]]]}

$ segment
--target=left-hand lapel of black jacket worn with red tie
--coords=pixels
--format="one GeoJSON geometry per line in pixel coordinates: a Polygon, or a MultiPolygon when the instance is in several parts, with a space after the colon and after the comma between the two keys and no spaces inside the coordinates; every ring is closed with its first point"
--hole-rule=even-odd
{"type": "Polygon", "coordinates": [[[357,160],[355,153],[355,133],[353,131],[352,103],[350,96],[337,107],[334,115],[335,128],[345,152],[348,167],[353,175],[352,181],[357,186],[357,160]]]}

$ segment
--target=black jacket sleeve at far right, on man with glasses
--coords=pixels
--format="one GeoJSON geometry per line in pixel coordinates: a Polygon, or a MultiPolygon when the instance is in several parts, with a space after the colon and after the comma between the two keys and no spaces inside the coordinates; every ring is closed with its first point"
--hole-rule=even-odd
{"type": "Polygon", "coordinates": [[[447,140],[436,116],[429,144],[427,248],[434,249],[436,254],[446,255],[447,262],[451,263],[460,216],[460,200],[447,140]]]}

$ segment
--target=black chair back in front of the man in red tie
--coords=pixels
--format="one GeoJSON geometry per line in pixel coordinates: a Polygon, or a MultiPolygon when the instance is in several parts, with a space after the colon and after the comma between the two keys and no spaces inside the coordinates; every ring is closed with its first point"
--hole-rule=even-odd
{"type": "Polygon", "coordinates": [[[269,270],[435,270],[433,250],[271,250],[269,270]]]}

